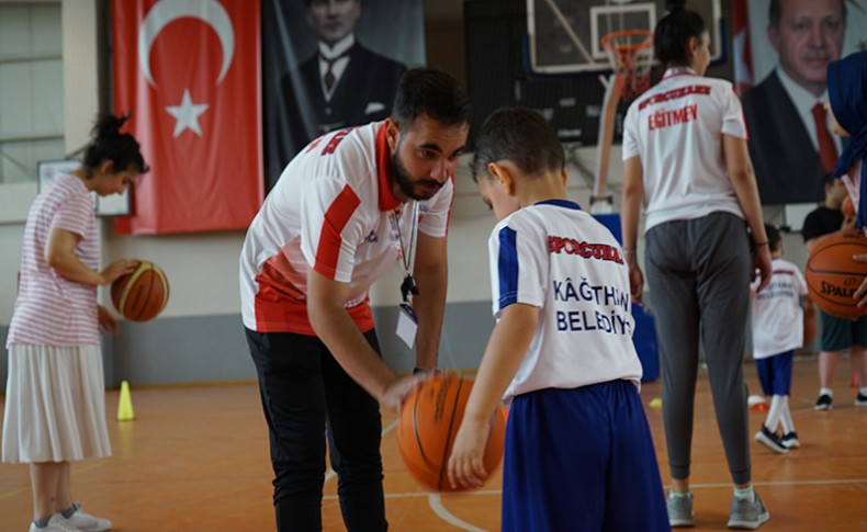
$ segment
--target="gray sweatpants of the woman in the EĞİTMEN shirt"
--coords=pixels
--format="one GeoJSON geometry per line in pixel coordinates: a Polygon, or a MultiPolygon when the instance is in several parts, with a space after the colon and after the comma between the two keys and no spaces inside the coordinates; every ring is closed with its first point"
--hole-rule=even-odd
{"type": "Polygon", "coordinates": [[[652,227],[645,272],[662,363],[672,477],[689,478],[699,340],[717,425],[735,484],[751,480],[743,377],[753,260],[743,219],[729,213],[652,227]]]}

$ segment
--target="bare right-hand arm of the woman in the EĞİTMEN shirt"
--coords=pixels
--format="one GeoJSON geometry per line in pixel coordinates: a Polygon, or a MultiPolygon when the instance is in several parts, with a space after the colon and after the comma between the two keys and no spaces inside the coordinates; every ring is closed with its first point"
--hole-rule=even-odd
{"type": "Polygon", "coordinates": [[[753,250],[753,265],[758,270],[762,279],[756,292],[762,292],[770,282],[770,248],[767,245],[762,203],[758,200],[758,185],[753,170],[753,161],[750,160],[746,140],[723,134],[722,154],[729,170],[729,180],[734,188],[734,195],[737,197],[746,224],[753,234],[753,241],[756,242],[753,250]]]}

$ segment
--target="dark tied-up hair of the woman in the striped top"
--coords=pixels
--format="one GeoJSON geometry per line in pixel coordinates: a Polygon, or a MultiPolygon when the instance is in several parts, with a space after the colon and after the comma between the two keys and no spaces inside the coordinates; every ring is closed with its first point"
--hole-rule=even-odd
{"type": "Polygon", "coordinates": [[[99,168],[105,160],[114,163],[114,172],[134,170],[145,173],[149,170],[145,158],[142,157],[138,140],[128,133],[121,133],[121,126],[128,118],[130,115],[114,116],[109,113],[102,113],[97,117],[82,161],[88,173],[99,168]]]}

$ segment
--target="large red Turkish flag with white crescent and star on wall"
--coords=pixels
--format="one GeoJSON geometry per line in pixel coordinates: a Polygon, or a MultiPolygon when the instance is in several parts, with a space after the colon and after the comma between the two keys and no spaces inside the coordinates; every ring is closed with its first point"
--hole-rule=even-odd
{"type": "Polygon", "coordinates": [[[259,2],[113,0],[114,112],[150,172],[124,234],[246,228],[264,194],[259,2]]]}

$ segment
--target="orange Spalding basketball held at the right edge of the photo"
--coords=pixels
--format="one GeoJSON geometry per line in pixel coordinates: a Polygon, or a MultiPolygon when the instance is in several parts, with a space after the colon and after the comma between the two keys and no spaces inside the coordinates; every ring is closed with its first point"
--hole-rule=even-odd
{"type": "Polygon", "coordinates": [[[819,308],[838,318],[867,315],[867,308],[858,307],[854,298],[867,275],[867,262],[852,258],[860,253],[867,253],[867,238],[860,231],[827,237],[813,248],[804,279],[810,298],[819,308]]]}

